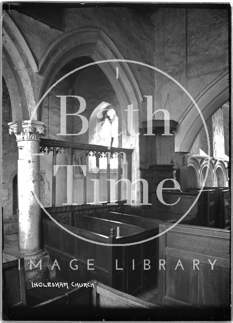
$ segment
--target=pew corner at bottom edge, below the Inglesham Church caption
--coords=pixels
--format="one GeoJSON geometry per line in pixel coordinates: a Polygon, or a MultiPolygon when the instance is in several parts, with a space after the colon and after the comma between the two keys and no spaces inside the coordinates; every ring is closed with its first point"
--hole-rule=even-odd
{"type": "Polygon", "coordinates": [[[18,313],[20,320],[121,320],[156,317],[158,306],[91,280],[18,313]]]}

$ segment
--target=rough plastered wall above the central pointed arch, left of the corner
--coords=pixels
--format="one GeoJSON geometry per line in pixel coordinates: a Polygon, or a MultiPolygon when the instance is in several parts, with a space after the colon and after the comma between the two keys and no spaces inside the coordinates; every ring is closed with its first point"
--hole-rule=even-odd
{"type": "MultiPolygon", "coordinates": [[[[45,7],[46,8],[46,7],[45,7]]],[[[79,28],[102,30],[126,60],[154,64],[154,26],[127,8],[72,8],[64,10],[64,31],[52,29],[15,10],[10,16],[20,29],[39,63],[57,37],[79,28]],[[30,30],[30,32],[28,32],[30,30]]],[[[154,92],[154,73],[145,67],[129,64],[143,95],[154,92]]],[[[38,89],[39,93],[39,89],[38,89]]],[[[145,105],[142,105],[142,109],[145,105]]]]}

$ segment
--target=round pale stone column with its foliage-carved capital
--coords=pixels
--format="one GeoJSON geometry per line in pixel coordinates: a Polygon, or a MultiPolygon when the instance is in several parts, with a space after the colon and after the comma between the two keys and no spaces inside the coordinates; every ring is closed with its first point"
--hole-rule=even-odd
{"type": "Polygon", "coordinates": [[[42,251],[40,237],[40,138],[45,134],[44,123],[23,120],[8,124],[10,134],[18,144],[19,253],[27,257],[42,251]]]}

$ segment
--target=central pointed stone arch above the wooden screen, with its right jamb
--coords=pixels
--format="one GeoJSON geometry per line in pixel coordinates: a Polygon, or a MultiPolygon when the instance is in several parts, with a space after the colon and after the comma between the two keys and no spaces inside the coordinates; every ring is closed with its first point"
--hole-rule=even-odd
{"type": "MultiPolygon", "coordinates": [[[[94,62],[124,59],[118,48],[116,48],[109,37],[100,29],[81,28],[65,33],[51,44],[39,64],[39,72],[43,75],[39,98],[49,88],[57,72],[68,62],[81,56],[89,56],[94,62]]],[[[134,109],[138,110],[143,100],[139,86],[127,63],[108,62],[98,64],[98,66],[108,78],[118,97],[121,106],[122,128],[126,129],[127,113],[125,109],[127,109],[128,105],[133,104],[134,109]],[[116,80],[116,67],[121,69],[121,78],[119,80],[116,80]]],[[[41,109],[39,110],[39,120],[42,116],[41,109]]],[[[134,149],[132,156],[132,181],[134,181],[140,177],[138,158],[139,120],[136,113],[133,114],[132,133],[129,135],[125,131],[122,137],[122,145],[125,148],[134,149]]],[[[135,194],[132,198],[135,203],[140,203],[140,194],[138,192],[139,189],[135,188],[135,194]]]]}

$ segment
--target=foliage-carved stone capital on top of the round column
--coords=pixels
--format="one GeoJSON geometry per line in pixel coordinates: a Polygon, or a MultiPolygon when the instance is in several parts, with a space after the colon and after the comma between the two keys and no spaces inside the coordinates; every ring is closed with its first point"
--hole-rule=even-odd
{"type": "Polygon", "coordinates": [[[45,136],[45,125],[42,121],[37,120],[23,120],[17,122],[10,122],[9,133],[16,136],[17,141],[20,140],[40,140],[45,136]]]}

